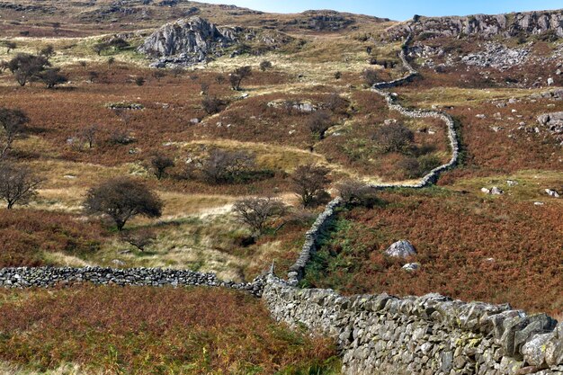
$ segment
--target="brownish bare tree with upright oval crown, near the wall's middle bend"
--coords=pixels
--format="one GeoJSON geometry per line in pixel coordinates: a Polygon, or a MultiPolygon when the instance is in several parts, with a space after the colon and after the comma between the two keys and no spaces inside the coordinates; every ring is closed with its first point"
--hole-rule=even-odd
{"type": "Polygon", "coordinates": [[[303,207],[312,207],[320,198],[325,196],[326,185],[330,183],[327,174],[330,170],[320,165],[299,165],[291,175],[293,192],[295,192],[303,207]]]}

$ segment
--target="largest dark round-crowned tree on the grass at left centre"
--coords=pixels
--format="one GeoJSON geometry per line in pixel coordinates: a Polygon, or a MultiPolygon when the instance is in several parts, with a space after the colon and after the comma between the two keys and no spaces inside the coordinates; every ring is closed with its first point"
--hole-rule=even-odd
{"type": "Polygon", "coordinates": [[[83,205],[87,213],[112,218],[121,231],[132,217],[159,218],[164,203],[145,184],[130,177],[118,177],[90,189],[83,205]]]}

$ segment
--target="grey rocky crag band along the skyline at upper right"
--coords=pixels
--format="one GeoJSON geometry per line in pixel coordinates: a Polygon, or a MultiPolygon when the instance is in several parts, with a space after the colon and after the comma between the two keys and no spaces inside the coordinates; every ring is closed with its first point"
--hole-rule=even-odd
{"type": "Polygon", "coordinates": [[[451,17],[424,17],[416,15],[412,21],[391,29],[396,36],[409,32],[429,33],[435,36],[458,37],[478,35],[490,38],[496,35],[517,37],[523,34],[551,32],[563,37],[563,9],[508,14],[475,14],[451,17]]]}

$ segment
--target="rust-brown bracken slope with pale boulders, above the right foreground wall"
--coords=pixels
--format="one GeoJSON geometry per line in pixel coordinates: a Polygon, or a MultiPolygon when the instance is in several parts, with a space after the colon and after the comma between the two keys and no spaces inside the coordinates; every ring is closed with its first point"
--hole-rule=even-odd
{"type": "Polygon", "coordinates": [[[335,221],[307,283],[347,294],[439,292],[557,316],[563,311],[560,210],[555,203],[483,200],[476,192],[439,188],[381,192],[371,210],[355,208],[335,221]],[[383,254],[400,239],[416,247],[408,262],[421,263],[420,270],[407,272],[401,268],[407,260],[383,254]]]}

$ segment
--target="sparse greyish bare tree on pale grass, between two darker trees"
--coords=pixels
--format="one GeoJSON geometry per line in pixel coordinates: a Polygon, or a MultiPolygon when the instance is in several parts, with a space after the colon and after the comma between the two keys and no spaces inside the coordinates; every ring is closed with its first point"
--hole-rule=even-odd
{"type": "Polygon", "coordinates": [[[249,226],[254,237],[264,233],[273,219],[281,218],[286,212],[286,205],[275,198],[245,198],[233,206],[237,218],[249,226]]]}

